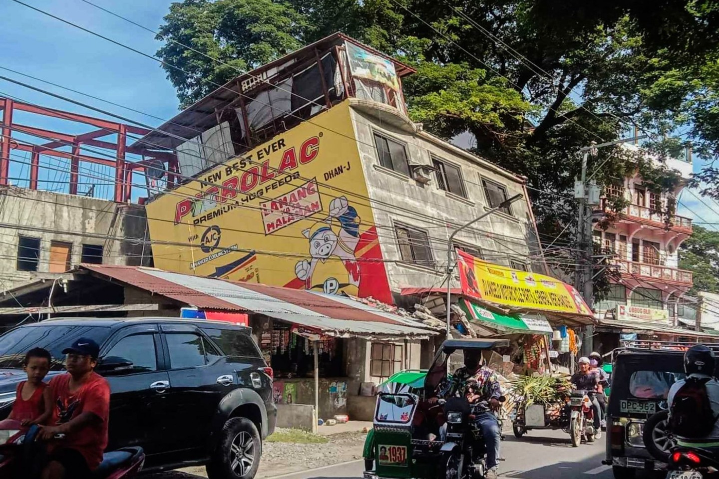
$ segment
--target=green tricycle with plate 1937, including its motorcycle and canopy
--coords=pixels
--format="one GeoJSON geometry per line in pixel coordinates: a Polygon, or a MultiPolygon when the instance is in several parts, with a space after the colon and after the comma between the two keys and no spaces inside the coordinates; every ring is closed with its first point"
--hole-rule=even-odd
{"type": "MultiPolygon", "coordinates": [[[[428,371],[401,371],[380,385],[374,427],[365,441],[365,479],[478,479],[487,472],[475,416],[486,401],[470,404],[452,381],[452,353],[481,354],[508,340],[446,340],[428,371]],[[444,439],[443,439],[444,438],[444,439]]],[[[454,364],[459,367],[462,364],[454,364]]]]}

